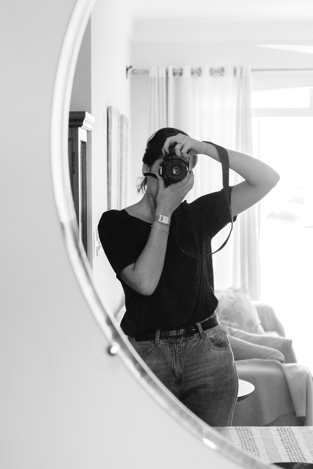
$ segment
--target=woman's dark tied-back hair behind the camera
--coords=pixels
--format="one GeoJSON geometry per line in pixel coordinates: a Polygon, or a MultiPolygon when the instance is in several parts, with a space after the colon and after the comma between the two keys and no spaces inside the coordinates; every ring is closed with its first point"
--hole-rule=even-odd
{"type": "MultiPolygon", "coordinates": [[[[172,137],[177,134],[183,134],[188,136],[188,134],[186,134],[186,132],[183,132],[183,130],[174,129],[173,127],[164,127],[163,129],[159,129],[154,132],[154,134],[147,141],[147,146],[142,161],[151,167],[157,159],[163,156],[162,148],[165,140],[168,137],[172,137]]],[[[195,164],[196,162],[197,158],[195,158],[195,164]]],[[[145,176],[138,179],[139,181],[137,182],[137,191],[138,193],[140,191],[144,193],[148,178],[147,176],[145,176]]]]}

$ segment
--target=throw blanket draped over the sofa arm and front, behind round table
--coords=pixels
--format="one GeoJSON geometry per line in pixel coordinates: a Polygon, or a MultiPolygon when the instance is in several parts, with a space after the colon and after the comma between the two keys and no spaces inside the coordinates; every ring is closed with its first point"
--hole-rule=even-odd
{"type": "Polygon", "coordinates": [[[313,425],[313,379],[298,363],[276,360],[239,360],[238,377],[255,386],[244,401],[237,402],[234,426],[313,425]]]}

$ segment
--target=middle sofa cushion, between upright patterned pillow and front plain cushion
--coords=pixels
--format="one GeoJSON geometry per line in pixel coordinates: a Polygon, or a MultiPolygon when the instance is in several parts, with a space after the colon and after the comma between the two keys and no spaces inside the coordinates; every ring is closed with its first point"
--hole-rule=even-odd
{"type": "Polygon", "coordinates": [[[235,329],[233,327],[226,327],[225,329],[229,337],[231,336],[232,338],[236,338],[237,340],[244,340],[245,342],[250,342],[253,345],[263,346],[272,349],[275,348],[283,354],[283,356],[285,357],[285,363],[297,363],[297,358],[292,347],[291,339],[286,339],[285,337],[280,336],[274,337],[268,335],[251,334],[245,331],[240,331],[239,329],[235,329]]]}

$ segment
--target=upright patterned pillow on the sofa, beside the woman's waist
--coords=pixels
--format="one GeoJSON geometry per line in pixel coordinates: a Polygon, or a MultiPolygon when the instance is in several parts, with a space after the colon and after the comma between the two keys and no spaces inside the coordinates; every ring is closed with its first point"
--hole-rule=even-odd
{"type": "Polygon", "coordinates": [[[216,290],[214,295],[219,301],[216,309],[224,327],[235,327],[254,334],[264,334],[258,311],[245,285],[240,288],[216,290]]]}

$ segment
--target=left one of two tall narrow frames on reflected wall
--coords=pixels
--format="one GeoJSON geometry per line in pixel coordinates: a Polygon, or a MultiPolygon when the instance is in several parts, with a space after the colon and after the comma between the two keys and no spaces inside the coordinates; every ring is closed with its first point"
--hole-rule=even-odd
{"type": "Polygon", "coordinates": [[[107,108],[107,210],[120,210],[119,161],[120,161],[120,112],[113,106],[107,108]]]}

